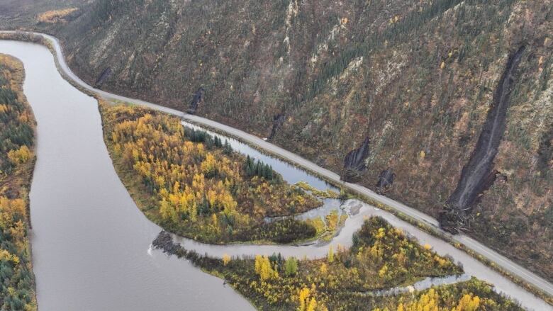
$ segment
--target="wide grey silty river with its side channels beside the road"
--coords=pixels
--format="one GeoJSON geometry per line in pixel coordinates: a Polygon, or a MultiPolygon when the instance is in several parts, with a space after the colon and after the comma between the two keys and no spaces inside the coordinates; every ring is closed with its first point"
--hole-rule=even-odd
{"type": "MultiPolygon", "coordinates": [[[[0,52],[18,57],[25,65],[23,89],[38,123],[30,215],[40,310],[252,310],[247,300],[219,278],[150,249],[160,227],[138,210],[118,179],[102,138],[96,101],[62,79],[50,51],[40,45],[0,40],[0,52]]],[[[272,164],[287,181],[330,187],[279,159],[231,142],[240,152],[272,164]]],[[[438,254],[449,254],[469,276],[493,283],[498,292],[516,298],[524,307],[553,310],[463,251],[390,213],[358,200],[329,204],[358,210],[333,245],[351,244],[352,233],[364,217],[380,215],[421,243],[432,245],[438,254]]],[[[328,211],[328,205],[319,211],[328,211]]],[[[326,245],[213,246],[175,239],[213,256],[277,251],[285,256],[316,257],[328,250],[326,245]]]]}

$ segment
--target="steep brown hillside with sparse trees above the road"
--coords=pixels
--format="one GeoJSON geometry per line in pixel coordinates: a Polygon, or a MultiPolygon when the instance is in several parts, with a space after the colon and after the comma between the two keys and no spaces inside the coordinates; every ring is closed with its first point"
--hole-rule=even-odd
{"type": "Polygon", "coordinates": [[[493,176],[464,229],[553,279],[551,0],[94,0],[57,9],[73,7],[52,21],[40,12],[0,21],[57,35],[74,72],[118,94],[186,110],[203,88],[197,114],[270,135],[337,172],[370,137],[359,183],[376,188],[390,168],[386,195],[436,217],[476,152],[510,55],[524,47],[508,76],[493,176]]]}

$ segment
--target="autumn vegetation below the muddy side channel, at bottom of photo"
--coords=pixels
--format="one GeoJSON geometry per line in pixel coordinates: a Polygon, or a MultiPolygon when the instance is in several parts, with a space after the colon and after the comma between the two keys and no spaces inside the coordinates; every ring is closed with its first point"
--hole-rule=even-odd
{"type": "Polygon", "coordinates": [[[374,295],[462,268],[380,217],[364,222],[353,240],[350,249],[329,248],[326,258],[312,260],[280,254],[214,259],[186,251],[163,233],[154,245],[224,278],[259,310],[520,310],[475,278],[420,293],[374,295]]]}

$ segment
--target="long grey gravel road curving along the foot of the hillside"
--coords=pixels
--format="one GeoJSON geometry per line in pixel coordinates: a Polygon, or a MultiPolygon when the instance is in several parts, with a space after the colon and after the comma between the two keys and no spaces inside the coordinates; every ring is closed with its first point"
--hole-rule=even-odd
{"type": "MultiPolygon", "coordinates": [[[[16,32],[0,31],[0,33],[16,33],[16,32]]],[[[508,271],[513,275],[517,276],[518,278],[520,278],[521,280],[527,283],[530,283],[531,285],[534,285],[536,288],[539,288],[544,293],[547,293],[547,295],[553,296],[552,283],[550,283],[549,281],[545,280],[540,276],[537,276],[535,273],[528,271],[526,268],[523,268],[522,266],[511,261],[510,259],[505,258],[505,256],[498,254],[496,251],[494,251],[493,249],[490,249],[489,247],[486,247],[484,244],[481,244],[480,242],[477,242],[476,240],[464,234],[458,234],[458,235],[449,234],[440,229],[438,222],[434,217],[431,217],[430,215],[426,215],[425,213],[422,213],[419,210],[415,210],[415,208],[410,208],[407,205],[397,202],[396,200],[392,200],[391,198],[386,198],[385,196],[381,196],[375,193],[374,191],[370,190],[369,188],[359,186],[358,184],[355,184],[355,183],[345,183],[343,181],[340,181],[340,176],[335,172],[330,171],[328,169],[324,169],[323,167],[318,166],[317,164],[309,161],[308,159],[304,159],[303,157],[300,157],[297,154],[289,152],[286,149],[273,145],[270,142],[266,142],[262,138],[259,138],[255,135],[248,134],[247,132],[244,132],[242,130],[232,128],[228,125],[218,123],[213,120],[201,118],[198,115],[189,115],[189,114],[183,113],[182,111],[177,111],[176,109],[160,106],[155,103],[142,101],[136,98],[128,98],[125,96],[111,94],[99,89],[94,89],[94,87],[86,84],[86,82],[82,81],[82,79],[77,77],[77,75],[75,75],[71,71],[71,69],[69,69],[69,67],[67,66],[67,63],[65,62],[65,57],[63,57],[62,47],[60,45],[59,40],[57,40],[57,38],[43,33],[28,33],[28,34],[40,35],[40,36],[43,36],[43,38],[50,40],[56,52],[55,57],[57,57],[58,68],[62,70],[62,74],[64,74],[66,78],[72,79],[74,83],[78,84],[82,88],[88,91],[91,91],[94,94],[97,94],[98,96],[101,96],[102,98],[108,101],[122,101],[125,103],[135,103],[141,106],[147,106],[157,111],[163,111],[164,113],[177,115],[191,123],[196,123],[199,125],[206,126],[208,128],[213,128],[213,129],[225,132],[227,135],[237,137],[243,142],[247,142],[248,144],[258,147],[260,149],[263,149],[264,151],[269,152],[270,154],[274,154],[277,157],[281,157],[282,159],[285,159],[288,162],[291,162],[293,164],[303,167],[303,169],[307,169],[308,171],[313,171],[319,176],[322,176],[324,179],[327,179],[328,181],[339,184],[340,186],[347,188],[349,191],[352,191],[353,193],[357,193],[361,196],[367,196],[372,200],[376,200],[379,203],[388,205],[389,207],[393,208],[397,212],[403,213],[404,215],[408,215],[414,220],[418,220],[420,222],[425,223],[426,225],[429,225],[434,230],[437,230],[438,232],[441,232],[442,234],[445,234],[447,237],[451,238],[452,241],[458,242],[459,244],[463,244],[464,247],[467,247],[468,249],[475,251],[477,254],[484,256],[484,258],[488,259],[489,261],[492,261],[497,266],[503,268],[505,271],[508,271]]]]}

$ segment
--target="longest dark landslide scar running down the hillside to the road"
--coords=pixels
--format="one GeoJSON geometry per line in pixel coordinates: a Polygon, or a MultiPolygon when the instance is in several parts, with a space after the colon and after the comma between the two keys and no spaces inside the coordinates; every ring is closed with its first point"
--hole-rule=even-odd
{"type": "Polygon", "coordinates": [[[461,171],[461,179],[457,188],[449,196],[445,207],[440,213],[440,225],[449,232],[466,230],[470,220],[471,210],[477,199],[493,184],[498,171],[493,169],[493,159],[505,132],[507,110],[510,104],[510,94],[515,85],[515,72],[525,50],[521,46],[517,52],[510,55],[505,72],[499,80],[498,88],[493,95],[493,107],[488,112],[482,132],[476,142],[469,162],[461,171]]]}

